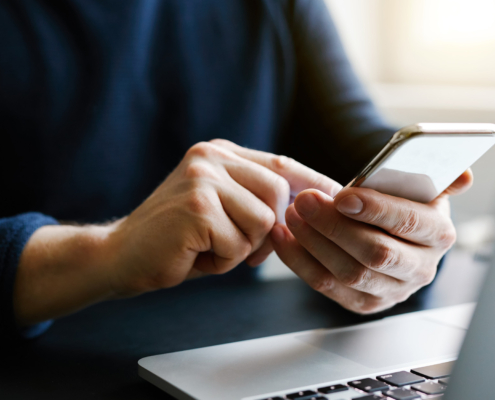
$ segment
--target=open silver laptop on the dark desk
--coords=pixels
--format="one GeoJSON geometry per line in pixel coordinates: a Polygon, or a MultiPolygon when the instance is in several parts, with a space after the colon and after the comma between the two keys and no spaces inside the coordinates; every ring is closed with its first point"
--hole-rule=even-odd
{"type": "Polygon", "coordinates": [[[474,310],[464,304],[146,357],[139,375],[177,399],[494,399],[495,268],[470,324],[474,310]]]}

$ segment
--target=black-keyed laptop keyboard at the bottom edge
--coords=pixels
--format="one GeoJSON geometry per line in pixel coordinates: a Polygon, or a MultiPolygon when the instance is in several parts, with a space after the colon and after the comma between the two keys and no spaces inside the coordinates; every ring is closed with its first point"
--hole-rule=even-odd
{"type": "Polygon", "coordinates": [[[414,400],[442,397],[454,362],[398,371],[259,400],[414,400]],[[340,395],[340,397],[339,397],[340,395]]]}

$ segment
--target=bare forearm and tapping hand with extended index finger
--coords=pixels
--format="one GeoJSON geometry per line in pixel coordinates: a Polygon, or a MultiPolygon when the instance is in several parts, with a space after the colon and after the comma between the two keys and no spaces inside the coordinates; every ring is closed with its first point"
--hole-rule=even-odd
{"type": "Polygon", "coordinates": [[[108,298],[255,266],[273,250],[269,233],[291,194],[341,186],[283,156],[226,140],[193,146],[129,216],[106,226],[46,226],[19,263],[14,309],[20,325],[108,298]]]}

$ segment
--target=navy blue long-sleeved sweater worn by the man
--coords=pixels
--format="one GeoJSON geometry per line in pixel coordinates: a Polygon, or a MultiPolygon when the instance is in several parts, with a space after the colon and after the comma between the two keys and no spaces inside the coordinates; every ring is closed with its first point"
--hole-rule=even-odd
{"type": "Polygon", "coordinates": [[[323,0],[4,0],[0,123],[10,336],[30,235],[129,213],[194,143],[285,153],[346,183],[392,133],[323,0]]]}

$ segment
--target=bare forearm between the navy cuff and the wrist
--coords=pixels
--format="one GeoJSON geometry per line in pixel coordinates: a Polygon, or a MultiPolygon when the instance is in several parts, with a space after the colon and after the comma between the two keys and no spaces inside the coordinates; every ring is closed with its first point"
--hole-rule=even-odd
{"type": "Polygon", "coordinates": [[[27,242],[13,306],[19,326],[77,311],[112,296],[111,226],[44,226],[27,242]]]}

